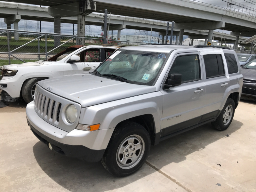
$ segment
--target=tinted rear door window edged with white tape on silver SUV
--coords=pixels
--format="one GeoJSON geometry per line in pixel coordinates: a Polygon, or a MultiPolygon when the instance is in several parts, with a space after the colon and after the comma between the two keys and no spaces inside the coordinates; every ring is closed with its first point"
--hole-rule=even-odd
{"type": "Polygon", "coordinates": [[[225,75],[221,54],[209,54],[203,57],[206,79],[225,75]]]}

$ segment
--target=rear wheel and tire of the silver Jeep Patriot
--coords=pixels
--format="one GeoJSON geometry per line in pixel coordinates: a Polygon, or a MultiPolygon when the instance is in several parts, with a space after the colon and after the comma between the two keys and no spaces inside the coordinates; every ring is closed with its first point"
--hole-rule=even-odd
{"type": "Polygon", "coordinates": [[[235,102],[233,99],[228,98],[220,115],[215,121],[212,122],[212,126],[215,129],[224,131],[231,124],[235,114],[235,102]]]}

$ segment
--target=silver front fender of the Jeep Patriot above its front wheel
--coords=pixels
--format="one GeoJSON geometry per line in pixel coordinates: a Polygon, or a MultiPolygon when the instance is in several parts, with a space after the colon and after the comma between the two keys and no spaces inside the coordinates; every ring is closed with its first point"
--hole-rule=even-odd
{"type": "Polygon", "coordinates": [[[110,129],[132,117],[151,114],[157,133],[161,129],[162,110],[163,94],[152,92],[82,108],[79,124],[100,124],[100,129],[110,129]]]}

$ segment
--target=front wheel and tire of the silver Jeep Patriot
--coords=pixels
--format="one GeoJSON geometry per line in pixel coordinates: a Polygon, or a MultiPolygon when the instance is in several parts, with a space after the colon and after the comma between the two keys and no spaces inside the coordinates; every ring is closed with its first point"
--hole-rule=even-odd
{"type": "Polygon", "coordinates": [[[128,176],[140,169],[149,150],[148,131],[135,122],[124,122],[116,127],[101,163],[112,175],[128,176]]]}

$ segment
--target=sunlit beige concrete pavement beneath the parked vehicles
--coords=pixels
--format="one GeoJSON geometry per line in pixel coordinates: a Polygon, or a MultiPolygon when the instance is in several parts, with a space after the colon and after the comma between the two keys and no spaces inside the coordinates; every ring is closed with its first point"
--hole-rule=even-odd
{"type": "Polygon", "coordinates": [[[1,191],[256,191],[256,102],[240,102],[226,131],[206,124],[151,146],[125,178],[50,151],[30,131],[26,105],[9,104],[0,108],[1,191]]]}

